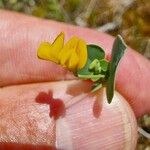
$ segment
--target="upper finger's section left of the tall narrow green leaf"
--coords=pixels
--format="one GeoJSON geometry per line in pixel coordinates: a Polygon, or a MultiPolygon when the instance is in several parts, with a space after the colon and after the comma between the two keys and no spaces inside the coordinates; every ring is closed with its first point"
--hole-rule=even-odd
{"type": "Polygon", "coordinates": [[[89,29],[63,23],[40,20],[12,12],[1,11],[0,14],[2,33],[0,35],[0,86],[74,78],[62,67],[37,58],[40,42],[53,41],[61,31],[65,32],[66,40],[70,36],[78,35],[87,42],[101,41],[102,46],[107,45],[107,49],[111,47],[111,42],[106,44],[106,39],[113,40],[105,34],[100,33],[100,36],[99,33],[89,29]]]}

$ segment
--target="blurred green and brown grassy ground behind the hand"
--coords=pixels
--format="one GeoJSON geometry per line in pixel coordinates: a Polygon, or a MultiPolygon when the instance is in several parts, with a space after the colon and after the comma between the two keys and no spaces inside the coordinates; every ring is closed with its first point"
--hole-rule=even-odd
{"type": "MultiPolygon", "coordinates": [[[[0,0],[0,8],[120,34],[150,59],[150,0],[0,0]]],[[[138,124],[150,133],[150,115],[138,124]]],[[[150,150],[150,139],[139,135],[137,150],[150,150]]]]}

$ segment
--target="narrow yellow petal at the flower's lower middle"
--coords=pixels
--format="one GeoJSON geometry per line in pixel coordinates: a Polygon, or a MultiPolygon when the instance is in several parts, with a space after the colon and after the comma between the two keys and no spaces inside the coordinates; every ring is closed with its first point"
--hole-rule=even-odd
{"type": "Polygon", "coordinates": [[[76,50],[74,49],[72,50],[72,53],[69,59],[68,68],[75,72],[78,62],[79,62],[79,58],[78,58],[78,55],[76,54],[76,50]]]}

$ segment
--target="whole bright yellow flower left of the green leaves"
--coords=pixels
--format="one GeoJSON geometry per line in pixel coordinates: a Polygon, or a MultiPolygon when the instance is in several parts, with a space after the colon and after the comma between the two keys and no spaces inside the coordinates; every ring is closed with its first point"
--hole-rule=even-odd
{"type": "Polygon", "coordinates": [[[48,42],[40,44],[38,57],[50,60],[76,72],[76,70],[83,68],[86,64],[86,42],[78,37],[72,37],[64,45],[64,33],[60,33],[52,44],[48,42]]]}

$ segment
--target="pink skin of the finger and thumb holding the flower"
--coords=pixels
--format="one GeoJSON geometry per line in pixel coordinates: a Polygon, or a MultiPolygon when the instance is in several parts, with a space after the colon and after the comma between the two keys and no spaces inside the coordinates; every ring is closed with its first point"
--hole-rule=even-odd
{"type": "MultiPolygon", "coordinates": [[[[134,149],[137,134],[134,114],[139,117],[150,112],[150,62],[128,48],[118,69],[116,90],[130,105],[117,95],[111,105],[105,102],[103,107],[102,103],[94,105],[102,108],[99,114],[93,103],[100,94],[84,97],[81,92],[88,94],[90,83],[80,83],[67,70],[36,56],[39,43],[53,41],[61,31],[65,32],[66,40],[77,35],[87,43],[104,47],[110,58],[114,38],[107,34],[0,10],[0,147],[52,149],[57,140],[59,148],[134,149]],[[57,121],[49,117],[52,106],[37,101],[41,92],[50,91],[60,100],[60,106],[62,102],[68,106],[67,115],[57,121]],[[67,104],[74,98],[81,100],[67,104]],[[92,107],[93,113],[88,112],[92,107]],[[100,117],[95,120],[97,114],[100,117]],[[115,139],[116,136],[119,138],[115,139]]],[[[98,99],[106,101],[104,97],[98,99]]]]}

